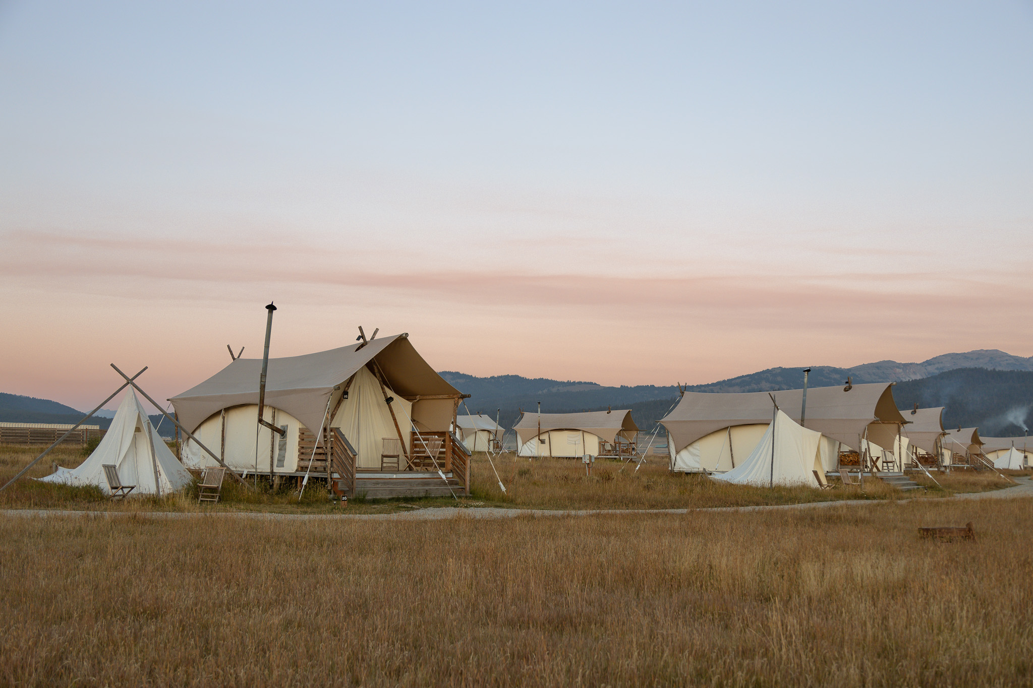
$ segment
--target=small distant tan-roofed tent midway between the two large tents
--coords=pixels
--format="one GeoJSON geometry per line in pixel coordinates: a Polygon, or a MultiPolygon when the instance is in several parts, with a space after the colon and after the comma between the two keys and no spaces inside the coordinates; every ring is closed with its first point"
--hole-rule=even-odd
{"type": "Polygon", "coordinates": [[[628,456],[637,451],[631,412],[524,413],[513,426],[520,456],[628,456]]]}

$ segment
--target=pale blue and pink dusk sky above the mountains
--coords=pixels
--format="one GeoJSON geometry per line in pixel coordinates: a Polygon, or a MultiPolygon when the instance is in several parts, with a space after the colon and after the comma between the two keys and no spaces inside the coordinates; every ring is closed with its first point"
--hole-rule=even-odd
{"type": "Polygon", "coordinates": [[[701,384],[1033,355],[1031,2],[0,1],[0,391],[408,332],[701,384]]]}

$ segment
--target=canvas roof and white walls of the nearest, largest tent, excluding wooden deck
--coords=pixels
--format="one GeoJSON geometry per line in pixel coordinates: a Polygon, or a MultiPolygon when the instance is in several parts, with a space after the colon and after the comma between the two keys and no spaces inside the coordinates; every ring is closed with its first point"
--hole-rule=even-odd
{"type": "MultiPolygon", "coordinates": [[[[448,433],[463,397],[408,336],[269,359],[263,419],[283,435],[257,424],[261,359],[238,358],[170,401],[180,422],[233,470],[269,472],[272,464],[275,473],[305,472],[320,427],[340,429],[357,452],[357,469],[377,470],[384,439],[400,440],[411,456],[415,432],[448,433]]],[[[192,441],[181,454],[191,467],[215,463],[192,441]]]]}

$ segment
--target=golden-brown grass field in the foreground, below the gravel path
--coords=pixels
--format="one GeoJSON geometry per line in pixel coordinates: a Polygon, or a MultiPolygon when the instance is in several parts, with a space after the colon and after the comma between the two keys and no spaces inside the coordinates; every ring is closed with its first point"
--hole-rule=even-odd
{"type": "Polygon", "coordinates": [[[1026,499],[438,522],[0,521],[0,685],[1033,681],[1026,499]],[[919,539],[975,523],[975,543],[919,539]]]}

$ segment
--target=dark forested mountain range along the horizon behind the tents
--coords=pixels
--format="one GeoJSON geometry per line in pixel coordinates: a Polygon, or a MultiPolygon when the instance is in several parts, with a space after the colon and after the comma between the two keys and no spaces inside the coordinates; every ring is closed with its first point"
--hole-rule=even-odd
{"type": "MultiPolygon", "coordinates": [[[[694,392],[766,392],[803,387],[803,368],[778,367],[684,387],[694,392]]],[[[484,413],[512,427],[520,411],[542,413],[630,408],[643,429],[651,429],[678,400],[678,387],[635,385],[606,387],[592,382],[493,375],[477,378],[455,370],[441,375],[470,394],[460,413],[484,413]]],[[[1033,357],[1012,356],[996,349],[943,354],[920,363],[878,361],[853,367],[811,366],[811,387],[854,383],[898,383],[894,396],[902,408],[946,406],[944,423],[979,426],[988,435],[1022,434],[1026,414],[1033,408],[1033,357]]],[[[106,411],[106,414],[114,415],[106,411]]],[[[0,421],[23,423],[75,423],[84,412],[35,397],[0,393],[0,421]]],[[[151,416],[157,427],[161,417],[151,416]]],[[[111,425],[111,418],[94,417],[92,425],[111,425]]],[[[168,422],[161,423],[165,434],[168,422]]],[[[168,430],[170,432],[170,429],[168,430]]]]}

